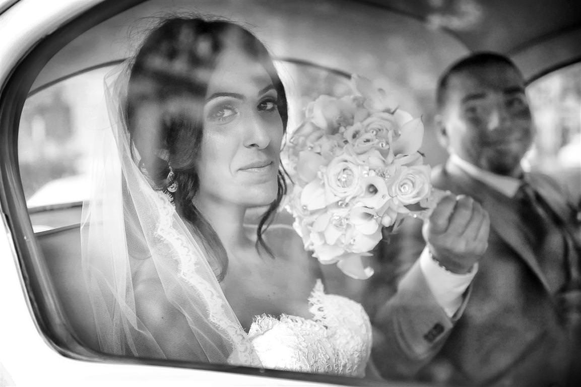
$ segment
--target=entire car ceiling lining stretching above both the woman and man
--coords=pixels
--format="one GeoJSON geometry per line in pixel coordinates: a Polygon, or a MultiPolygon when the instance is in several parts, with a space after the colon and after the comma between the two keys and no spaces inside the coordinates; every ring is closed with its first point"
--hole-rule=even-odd
{"type": "MultiPolygon", "coordinates": [[[[581,2],[569,0],[299,0],[286,3],[176,0],[170,6],[163,0],[148,0],[71,41],[41,71],[33,89],[75,71],[126,58],[135,48],[132,44],[139,41],[143,27],[152,22],[150,16],[161,16],[160,12],[166,10],[224,15],[249,25],[260,38],[271,41],[270,49],[275,56],[310,60],[316,56],[314,62],[335,68],[338,68],[337,61],[322,55],[332,57],[332,51],[324,47],[329,42],[327,36],[340,37],[347,46],[350,40],[356,44],[358,33],[354,31],[358,30],[358,23],[362,31],[397,33],[406,42],[425,40],[430,42],[433,51],[445,48],[452,52],[452,55],[447,52],[449,63],[469,51],[501,52],[515,60],[529,80],[581,59],[578,48],[581,2]],[[334,15],[333,6],[339,3],[341,11],[334,15]],[[261,13],[253,12],[256,9],[268,10],[271,17],[257,18],[261,13]],[[333,17],[320,17],[326,13],[333,17]],[[313,17],[317,23],[309,24],[313,17]],[[349,34],[341,35],[340,29],[345,29],[346,23],[354,25],[347,28],[349,34]],[[316,54],[316,46],[304,42],[300,34],[292,31],[301,28],[311,31],[310,40],[321,45],[321,55],[316,54]],[[277,41],[277,35],[284,35],[285,41],[277,41]]],[[[434,63],[435,70],[442,71],[449,63],[434,63]]]]}

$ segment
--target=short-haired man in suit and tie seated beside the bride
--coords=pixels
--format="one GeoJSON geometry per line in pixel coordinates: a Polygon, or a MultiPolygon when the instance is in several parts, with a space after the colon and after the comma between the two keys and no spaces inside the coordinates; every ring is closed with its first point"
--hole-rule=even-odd
{"type": "MultiPolygon", "coordinates": [[[[470,55],[440,78],[437,106],[440,142],[450,157],[432,182],[471,196],[489,213],[488,248],[476,265],[481,250],[469,248],[472,225],[451,247],[435,238],[433,230],[445,223],[432,215],[424,237],[447,279],[422,272],[422,259],[429,261],[423,253],[375,316],[385,333],[375,363],[386,376],[421,370],[444,384],[581,385],[579,209],[551,178],[521,169],[533,138],[521,72],[504,56],[470,55]],[[477,272],[472,280],[469,268],[477,272]],[[464,293],[446,309],[458,292],[464,293]],[[410,314],[414,324],[399,324],[410,314]]],[[[400,260],[413,256],[409,249],[400,260]]]]}

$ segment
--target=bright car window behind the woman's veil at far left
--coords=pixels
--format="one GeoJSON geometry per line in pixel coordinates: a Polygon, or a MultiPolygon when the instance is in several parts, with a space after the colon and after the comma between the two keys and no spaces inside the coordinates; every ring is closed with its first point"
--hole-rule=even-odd
{"type": "Polygon", "coordinates": [[[20,117],[18,155],[24,197],[35,231],[80,222],[71,210],[88,197],[91,139],[109,124],[103,77],[87,71],[32,91],[20,117]],[[50,207],[63,209],[46,213],[50,207]]]}

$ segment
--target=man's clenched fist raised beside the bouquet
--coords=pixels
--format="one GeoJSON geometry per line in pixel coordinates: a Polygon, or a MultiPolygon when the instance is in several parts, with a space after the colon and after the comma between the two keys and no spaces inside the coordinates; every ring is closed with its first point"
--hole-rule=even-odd
{"type": "Polygon", "coordinates": [[[430,252],[447,270],[468,273],[488,246],[488,213],[474,199],[449,193],[424,223],[430,252]]]}

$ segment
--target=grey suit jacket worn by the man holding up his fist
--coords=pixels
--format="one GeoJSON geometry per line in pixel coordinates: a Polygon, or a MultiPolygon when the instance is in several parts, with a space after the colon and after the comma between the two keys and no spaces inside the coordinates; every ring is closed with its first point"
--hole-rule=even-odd
{"type": "MultiPolygon", "coordinates": [[[[557,216],[573,225],[576,213],[558,185],[544,175],[531,175],[530,180],[557,216]]],[[[571,369],[581,369],[579,338],[562,322],[515,206],[450,162],[433,170],[432,182],[437,188],[472,196],[489,212],[489,246],[461,309],[447,321],[424,292],[425,279],[417,264],[401,279],[390,309],[378,313],[375,322],[395,326],[394,321],[405,321],[401,317],[405,310],[422,323],[399,331],[392,328],[396,334],[389,339],[398,340],[406,350],[375,349],[376,364],[384,364],[379,367],[383,375],[415,375],[454,385],[581,385],[575,379],[579,375],[570,376],[571,369]],[[411,288],[417,298],[411,298],[411,288]],[[442,329],[434,332],[437,321],[442,329]],[[418,327],[424,331],[417,331],[418,327]],[[414,340],[410,350],[408,343],[414,340]]],[[[415,245],[423,247],[421,228],[411,234],[418,241],[415,245]]],[[[401,262],[414,260],[418,250],[408,249],[404,255],[401,262]]]]}

